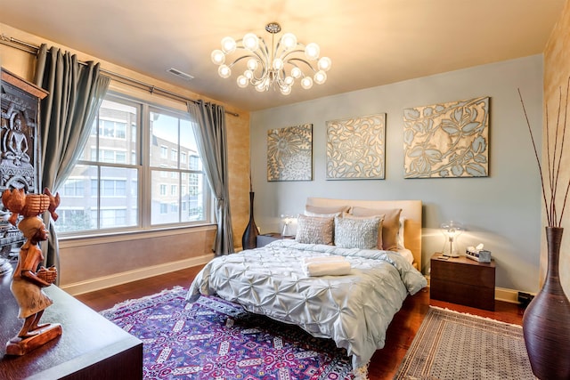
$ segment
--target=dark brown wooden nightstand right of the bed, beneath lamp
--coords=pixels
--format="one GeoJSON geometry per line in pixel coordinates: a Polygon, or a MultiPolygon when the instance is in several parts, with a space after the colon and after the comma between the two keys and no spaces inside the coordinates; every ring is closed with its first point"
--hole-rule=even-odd
{"type": "Polygon", "coordinates": [[[465,256],[431,256],[429,295],[449,303],[495,310],[495,262],[478,263],[465,256]]]}

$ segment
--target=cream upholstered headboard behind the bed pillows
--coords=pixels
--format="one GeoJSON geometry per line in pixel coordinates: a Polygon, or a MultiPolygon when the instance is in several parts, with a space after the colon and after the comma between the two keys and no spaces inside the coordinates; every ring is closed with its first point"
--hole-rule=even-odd
{"type": "Polygon", "coordinates": [[[417,268],[421,270],[421,200],[358,200],[307,198],[310,206],[360,206],[375,209],[402,208],[403,241],[406,248],[411,250],[417,268]]]}

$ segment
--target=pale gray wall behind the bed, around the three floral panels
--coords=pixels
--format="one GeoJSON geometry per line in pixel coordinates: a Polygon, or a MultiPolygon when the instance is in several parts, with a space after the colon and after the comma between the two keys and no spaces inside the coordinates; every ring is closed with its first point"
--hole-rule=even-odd
{"type": "Polygon", "coordinates": [[[536,292],[543,233],[541,185],[517,88],[540,149],[542,54],[253,112],[257,226],[262,233],[279,231],[280,215],[301,213],[307,197],[421,199],[424,273],[429,271],[429,257],[444,244],[438,226],[452,219],[467,228],[459,239],[462,250],[482,242],[492,251],[497,287],[536,292]],[[403,109],[479,96],[491,98],[489,176],[404,179],[403,109]],[[325,122],[375,113],[387,114],[385,180],[327,181],[325,122]],[[267,182],[266,131],[305,123],[313,124],[313,181],[267,182]]]}

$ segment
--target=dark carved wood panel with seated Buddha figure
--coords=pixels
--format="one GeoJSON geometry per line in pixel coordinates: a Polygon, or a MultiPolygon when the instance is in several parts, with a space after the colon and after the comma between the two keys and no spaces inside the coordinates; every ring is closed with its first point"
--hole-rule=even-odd
{"type": "MultiPolygon", "coordinates": [[[[0,69],[0,193],[6,189],[41,192],[39,186],[39,104],[47,92],[0,69]]],[[[6,222],[0,201],[0,249],[23,240],[6,222]]]]}

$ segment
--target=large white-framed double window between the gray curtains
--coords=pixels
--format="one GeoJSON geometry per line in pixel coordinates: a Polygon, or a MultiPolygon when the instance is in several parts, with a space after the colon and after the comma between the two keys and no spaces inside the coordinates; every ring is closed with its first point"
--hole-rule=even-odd
{"type": "Polygon", "coordinates": [[[185,112],[108,94],[60,190],[58,232],[209,222],[210,191],[192,125],[185,112]]]}

